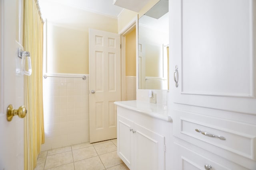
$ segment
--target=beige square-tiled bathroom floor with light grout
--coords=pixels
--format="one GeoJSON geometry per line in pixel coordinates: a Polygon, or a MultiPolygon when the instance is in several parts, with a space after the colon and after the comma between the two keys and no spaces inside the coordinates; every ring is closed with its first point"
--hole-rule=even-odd
{"type": "Polygon", "coordinates": [[[35,170],[129,170],[116,154],[116,139],[46,150],[35,170]]]}

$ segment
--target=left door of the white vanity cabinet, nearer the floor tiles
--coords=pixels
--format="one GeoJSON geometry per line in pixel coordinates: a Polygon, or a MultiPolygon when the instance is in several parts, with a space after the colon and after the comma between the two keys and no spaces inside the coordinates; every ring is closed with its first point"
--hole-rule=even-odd
{"type": "Polygon", "coordinates": [[[128,166],[132,167],[133,154],[133,122],[122,117],[117,116],[117,154],[128,166]]]}

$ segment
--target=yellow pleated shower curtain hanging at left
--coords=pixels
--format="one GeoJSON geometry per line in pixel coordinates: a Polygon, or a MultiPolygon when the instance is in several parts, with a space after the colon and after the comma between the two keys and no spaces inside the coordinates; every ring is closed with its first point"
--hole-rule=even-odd
{"type": "Polygon", "coordinates": [[[24,101],[28,113],[24,119],[24,170],[34,170],[44,143],[42,99],[43,25],[38,2],[24,0],[24,51],[30,52],[32,74],[24,76],[24,101]]]}

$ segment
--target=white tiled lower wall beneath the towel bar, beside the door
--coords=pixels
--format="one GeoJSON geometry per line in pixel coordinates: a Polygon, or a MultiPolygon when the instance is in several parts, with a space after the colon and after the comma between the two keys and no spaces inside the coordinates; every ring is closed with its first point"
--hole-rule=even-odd
{"type": "MultiPolygon", "coordinates": [[[[50,74],[75,76],[84,74],[50,74]]],[[[45,144],[42,151],[89,141],[89,75],[43,81],[45,144]]]]}

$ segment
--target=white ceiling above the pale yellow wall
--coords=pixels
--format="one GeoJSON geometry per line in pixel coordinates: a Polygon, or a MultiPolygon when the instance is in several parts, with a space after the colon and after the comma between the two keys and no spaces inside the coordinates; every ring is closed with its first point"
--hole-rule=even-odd
{"type": "MultiPolygon", "coordinates": [[[[117,18],[123,8],[113,5],[113,0],[38,0],[42,16],[54,5],[64,5],[117,18]]],[[[58,9],[58,8],[57,8],[58,9]]]]}

